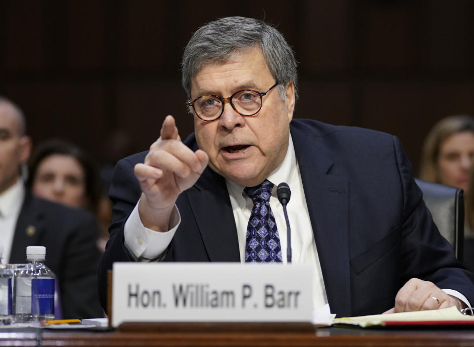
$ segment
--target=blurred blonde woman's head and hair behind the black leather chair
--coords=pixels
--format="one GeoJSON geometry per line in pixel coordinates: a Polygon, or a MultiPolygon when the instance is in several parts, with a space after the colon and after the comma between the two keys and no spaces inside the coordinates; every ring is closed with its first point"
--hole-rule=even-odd
{"type": "Polygon", "coordinates": [[[464,264],[474,270],[474,117],[441,119],[425,139],[420,178],[464,190],[464,264]]]}

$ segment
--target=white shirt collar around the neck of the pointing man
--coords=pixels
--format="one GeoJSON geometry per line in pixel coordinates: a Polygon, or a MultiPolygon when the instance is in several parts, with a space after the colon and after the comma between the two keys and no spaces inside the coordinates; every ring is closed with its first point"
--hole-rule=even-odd
{"type": "MultiPolygon", "coordinates": [[[[295,147],[293,145],[293,139],[290,138],[288,141],[288,150],[286,151],[286,155],[283,158],[281,164],[267,177],[267,179],[272,182],[275,187],[273,190],[276,189],[278,184],[281,182],[288,182],[293,174],[295,174],[296,170],[296,155],[295,155],[295,147]]],[[[226,178],[227,189],[229,190],[229,194],[234,197],[238,205],[240,207],[245,206],[245,196],[243,195],[244,186],[232,182],[226,178]]]]}

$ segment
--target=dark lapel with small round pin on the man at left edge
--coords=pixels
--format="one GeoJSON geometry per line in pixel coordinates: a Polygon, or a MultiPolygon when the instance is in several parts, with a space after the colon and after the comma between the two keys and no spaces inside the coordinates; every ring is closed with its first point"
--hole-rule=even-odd
{"type": "Polygon", "coordinates": [[[36,206],[36,200],[27,190],[25,200],[16,222],[15,235],[11,245],[10,263],[26,261],[26,247],[37,245],[43,232],[43,214],[36,206]]]}

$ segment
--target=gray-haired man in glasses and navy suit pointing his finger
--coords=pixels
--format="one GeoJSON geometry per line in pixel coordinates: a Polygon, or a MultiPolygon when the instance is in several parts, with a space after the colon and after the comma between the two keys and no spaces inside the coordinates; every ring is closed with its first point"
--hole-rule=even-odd
{"type": "Polygon", "coordinates": [[[473,303],[472,274],[439,235],[399,141],[293,119],[296,62],[276,29],[208,23],[182,67],[195,133],[181,142],[168,116],[148,152],[118,163],[102,304],[114,261],[284,261],[282,180],[293,259],[313,265],[316,303],[338,316],[473,303]]]}

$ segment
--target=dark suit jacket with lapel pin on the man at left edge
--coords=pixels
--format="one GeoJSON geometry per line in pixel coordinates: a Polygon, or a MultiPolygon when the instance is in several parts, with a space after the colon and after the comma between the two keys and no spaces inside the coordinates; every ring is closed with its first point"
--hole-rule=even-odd
{"type": "Polygon", "coordinates": [[[102,317],[97,293],[97,236],[97,223],[89,212],[39,199],[27,191],[10,263],[26,262],[27,246],[45,246],[46,266],[58,280],[63,318],[102,317]]]}

